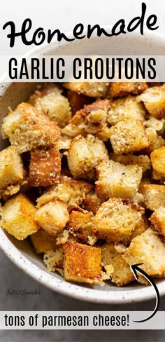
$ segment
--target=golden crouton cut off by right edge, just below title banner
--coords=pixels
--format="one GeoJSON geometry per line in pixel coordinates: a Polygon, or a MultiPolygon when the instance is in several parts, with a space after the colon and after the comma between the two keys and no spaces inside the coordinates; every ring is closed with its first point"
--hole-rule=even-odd
{"type": "Polygon", "coordinates": [[[165,86],[148,88],[138,97],[151,116],[155,118],[165,117],[165,86]]]}

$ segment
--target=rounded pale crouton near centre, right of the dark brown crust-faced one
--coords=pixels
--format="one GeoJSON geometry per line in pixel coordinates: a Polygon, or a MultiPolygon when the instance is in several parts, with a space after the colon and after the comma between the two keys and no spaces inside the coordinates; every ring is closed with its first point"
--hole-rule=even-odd
{"type": "Polygon", "coordinates": [[[73,139],[68,153],[69,170],[74,178],[94,180],[95,167],[108,157],[106,146],[93,135],[73,139]]]}

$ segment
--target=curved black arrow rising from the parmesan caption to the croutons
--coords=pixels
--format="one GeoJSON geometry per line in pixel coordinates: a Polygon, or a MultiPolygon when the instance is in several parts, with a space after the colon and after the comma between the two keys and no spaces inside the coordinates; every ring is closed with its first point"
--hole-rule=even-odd
{"type": "Polygon", "coordinates": [[[136,278],[136,280],[138,280],[138,274],[137,274],[137,271],[138,271],[148,280],[148,282],[150,282],[150,285],[154,287],[155,292],[156,292],[156,305],[155,305],[155,310],[153,311],[152,315],[150,315],[148,318],[145,318],[145,320],[133,321],[135,323],[142,323],[142,322],[146,322],[147,320],[150,320],[150,318],[152,318],[155,315],[155,313],[157,313],[157,310],[159,308],[159,302],[160,302],[160,296],[159,296],[157,285],[155,285],[155,282],[152,280],[152,278],[150,278],[150,275],[148,275],[148,273],[145,273],[145,271],[143,271],[140,267],[138,267],[140,265],[143,265],[143,264],[131,265],[130,266],[131,271],[132,273],[134,273],[134,277],[136,278]]]}

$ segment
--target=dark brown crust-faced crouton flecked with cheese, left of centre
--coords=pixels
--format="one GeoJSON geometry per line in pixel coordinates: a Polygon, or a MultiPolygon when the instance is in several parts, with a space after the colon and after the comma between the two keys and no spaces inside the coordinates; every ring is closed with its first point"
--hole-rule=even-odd
{"type": "Polygon", "coordinates": [[[30,186],[49,186],[55,184],[61,172],[61,158],[55,147],[31,151],[29,167],[30,186]]]}

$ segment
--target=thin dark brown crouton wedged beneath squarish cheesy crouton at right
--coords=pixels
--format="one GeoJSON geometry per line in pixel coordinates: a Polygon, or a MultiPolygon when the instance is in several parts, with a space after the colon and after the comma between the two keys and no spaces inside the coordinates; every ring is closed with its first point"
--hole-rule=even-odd
{"type": "Polygon", "coordinates": [[[127,154],[127,156],[119,156],[115,153],[112,153],[110,155],[110,158],[113,159],[117,163],[121,163],[123,165],[138,165],[142,167],[143,172],[150,170],[151,167],[151,161],[148,156],[145,156],[143,154],[139,156],[134,156],[132,154],[127,154]]]}

